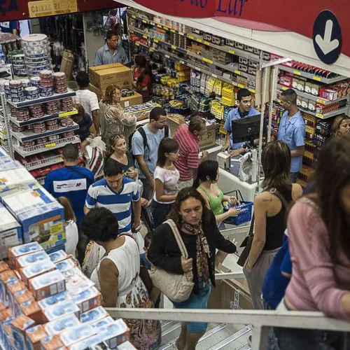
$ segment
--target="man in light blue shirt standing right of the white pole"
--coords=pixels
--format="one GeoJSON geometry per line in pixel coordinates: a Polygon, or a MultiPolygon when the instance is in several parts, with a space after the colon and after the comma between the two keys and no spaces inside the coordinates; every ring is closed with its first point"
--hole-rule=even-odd
{"type": "Polygon", "coordinates": [[[302,169],[302,156],[305,151],[305,123],[297,107],[297,94],[293,89],[281,93],[281,106],[285,109],[277,139],[283,141],[290,148],[292,162],[290,165],[290,180],[295,183],[302,169]]]}

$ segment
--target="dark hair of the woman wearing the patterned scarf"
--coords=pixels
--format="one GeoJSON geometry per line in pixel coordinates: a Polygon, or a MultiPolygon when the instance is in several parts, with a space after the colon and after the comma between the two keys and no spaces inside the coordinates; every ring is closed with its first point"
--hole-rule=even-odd
{"type": "Polygon", "coordinates": [[[210,211],[207,208],[207,203],[205,202],[203,196],[193,187],[183,188],[176,196],[176,201],[174,202],[172,209],[170,210],[167,218],[170,218],[176,223],[178,228],[180,228],[181,215],[180,209],[182,202],[188,200],[188,198],[195,198],[202,203],[202,221],[210,221],[210,211]]]}

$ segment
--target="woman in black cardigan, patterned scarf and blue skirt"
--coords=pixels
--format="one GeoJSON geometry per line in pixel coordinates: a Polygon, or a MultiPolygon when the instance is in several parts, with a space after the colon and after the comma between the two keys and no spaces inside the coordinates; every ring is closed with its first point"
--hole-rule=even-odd
{"type": "MultiPolygon", "coordinates": [[[[211,284],[215,286],[216,248],[225,253],[235,253],[233,243],[218,231],[214,214],[195,188],[184,188],[179,192],[168,218],[176,223],[183,243],[188,251],[188,260],[181,256],[172,229],[167,224],[156,228],[148,260],[167,272],[183,274],[193,272],[195,286],[188,300],[173,302],[178,309],[207,309],[211,284]]],[[[204,335],[207,323],[186,322],[181,325],[181,333],[176,340],[177,349],[195,350],[204,335]]]]}

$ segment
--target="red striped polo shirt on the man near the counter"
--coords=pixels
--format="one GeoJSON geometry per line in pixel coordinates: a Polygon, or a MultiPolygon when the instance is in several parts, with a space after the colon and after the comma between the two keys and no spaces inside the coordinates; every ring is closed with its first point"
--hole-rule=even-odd
{"type": "Polygon", "coordinates": [[[200,154],[200,139],[188,130],[188,125],[178,127],[174,140],[179,144],[179,158],[174,163],[180,173],[180,181],[193,179],[193,169],[197,169],[200,154]]]}

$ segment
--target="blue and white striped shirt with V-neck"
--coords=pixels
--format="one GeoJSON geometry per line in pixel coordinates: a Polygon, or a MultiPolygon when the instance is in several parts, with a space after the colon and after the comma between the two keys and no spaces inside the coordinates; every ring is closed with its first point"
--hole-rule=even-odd
{"type": "Polygon", "coordinates": [[[132,229],[132,202],[140,200],[139,186],[132,179],[123,177],[122,188],[116,193],[106,179],[99,180],[90,186],[87,191],[85,205],[87,208],[105,207],[117,218],[119,233],[131,232],[132,229]]]}

